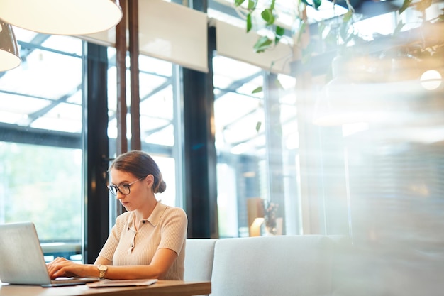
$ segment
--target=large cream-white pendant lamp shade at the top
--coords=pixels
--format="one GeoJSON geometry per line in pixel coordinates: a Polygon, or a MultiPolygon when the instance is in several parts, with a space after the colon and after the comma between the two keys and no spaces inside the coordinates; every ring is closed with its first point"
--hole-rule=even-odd
{"type": "Polygon", "coordinates": [[[13,26],[54,35],[86,35],[116,26],[119,0],[0,0],[0,18],[13,26]]]}

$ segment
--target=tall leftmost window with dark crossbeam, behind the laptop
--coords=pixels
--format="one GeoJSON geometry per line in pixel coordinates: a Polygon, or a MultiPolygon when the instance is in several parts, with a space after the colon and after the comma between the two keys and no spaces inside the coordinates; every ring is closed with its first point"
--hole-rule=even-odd
{"type": "Polygon", "coordinates": [[[0,73],[0,223],[33,221],[44,251],[69,257],[83,225],[82,40],[15,32],[22,64],[0,73]]]}

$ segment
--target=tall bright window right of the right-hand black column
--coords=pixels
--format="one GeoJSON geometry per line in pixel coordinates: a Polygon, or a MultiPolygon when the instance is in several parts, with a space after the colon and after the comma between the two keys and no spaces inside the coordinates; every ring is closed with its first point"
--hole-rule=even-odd
{"type": "Polygon", "coordinates": [[[299,234],[295,79],[217,55],[213,71],[220,236],[250,235],[248,203],[257,198],[280,207],[275,231],[299,234]]]}

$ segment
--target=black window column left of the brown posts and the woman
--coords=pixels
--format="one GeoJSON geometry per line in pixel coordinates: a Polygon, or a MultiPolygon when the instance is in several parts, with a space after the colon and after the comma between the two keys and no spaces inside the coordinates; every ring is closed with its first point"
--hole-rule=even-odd
{"type": "Polygon", "coordinates": [[[108,57],[106,47],[84,45],[84,263],[94,263],[109,234],[108,57]]]}

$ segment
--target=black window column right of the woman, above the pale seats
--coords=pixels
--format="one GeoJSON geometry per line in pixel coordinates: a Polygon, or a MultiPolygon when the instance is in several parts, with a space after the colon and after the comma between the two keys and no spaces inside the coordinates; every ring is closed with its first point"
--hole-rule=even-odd
{"type": "Polygon", "coordinates": [[[212,57],[215,28],[209,28],[209,72],[183,69],[184,194],[190,238],[218,237],[216,146],[212,57]]]}

